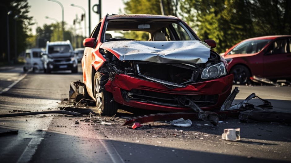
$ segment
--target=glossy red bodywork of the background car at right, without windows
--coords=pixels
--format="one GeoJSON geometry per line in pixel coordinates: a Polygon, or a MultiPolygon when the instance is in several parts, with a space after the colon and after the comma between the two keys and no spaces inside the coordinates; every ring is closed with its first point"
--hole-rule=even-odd
{"type": "Polygon", "coordinates": [[[291,53],[290,53],[290,40],[291,36],[263,36],[246,39],[237,43],[228,49],[224,55],[224,59],[230,60],[228,62],[228,70],[231,71],[234,66],[243,65],[250,71],[250,76],[261,75],[267,78],[285,78],[291,77],[291,53]],[[269,54],[270,50],[275,41],[287,39],[286,53],[269,54]],[[259,52],[253,54],[230,54],[232,49],[237,45],[246,41],[256,40],[270,40],[259,52]]]}

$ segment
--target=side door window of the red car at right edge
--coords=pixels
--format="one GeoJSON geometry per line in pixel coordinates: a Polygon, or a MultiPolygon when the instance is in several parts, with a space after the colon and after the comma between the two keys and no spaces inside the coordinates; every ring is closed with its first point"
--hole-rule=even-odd
{"type": "Polygon", "coordinates": [[[290,53],[290,39],[278,39],[270,45],[268,52],[271,54],[290,53]]]}

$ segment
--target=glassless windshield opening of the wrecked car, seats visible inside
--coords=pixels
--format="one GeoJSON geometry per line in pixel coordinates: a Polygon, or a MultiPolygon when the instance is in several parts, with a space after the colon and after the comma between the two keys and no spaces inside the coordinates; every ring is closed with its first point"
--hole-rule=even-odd
{"type": "Polygon", "coordinates": [[[193,34],[183,23],[168,19],[109,20],[106,24],[107,41],[193,41],[193,34]],[[144,28],[143,28],[144,27],[144,28]]]}

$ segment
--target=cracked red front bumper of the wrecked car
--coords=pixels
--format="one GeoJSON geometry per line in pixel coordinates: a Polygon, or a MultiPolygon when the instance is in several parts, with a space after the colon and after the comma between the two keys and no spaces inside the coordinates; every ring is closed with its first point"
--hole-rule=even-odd
{"type": "Polygon", "coordinates": [[[120,104],[148,109],[148,110],[160,110],[167,112],[185,112],[185,111],[193,111],[190,108],[186,107],[171,107],[164,105],[157,105],[145,102],[139,102],[130,100],[129,102],[125,101],[121,94],[121,89],[123,90],[132,90],[132,89],[140,89],[147,90],[152,92],[162,92],[173,95],[219,95],[218,102],[215,105],[209,107],[202,107],[201,109],[205,111],[209,110],[218,110],[223,104],[224,100],[228,97],[232,89],[232,80],[233,75],[227,75],[218,79],[208,80],[201,83],[195,83],[187,85],[184,88],[174,88],[170,89],[164,86],[163,84],[146,81],[142,79],[137,79],[132,76],[120,74],[115,75],[113,80],[110,80],[105,85],[105,89],[108,92],[113,94],[114,100],[120,104]]]}

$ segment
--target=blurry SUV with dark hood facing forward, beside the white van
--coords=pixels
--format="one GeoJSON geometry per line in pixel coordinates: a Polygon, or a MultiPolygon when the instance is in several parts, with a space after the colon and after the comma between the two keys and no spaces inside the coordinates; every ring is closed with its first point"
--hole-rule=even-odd
{"type": "Polygon", "coordinates": [[[51,71],[71,70],[78,72],[78,61],[72,44],[67,41],[46,42],[46,53],[42,55],[45,73],[51,71]]]}

